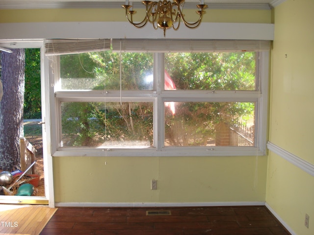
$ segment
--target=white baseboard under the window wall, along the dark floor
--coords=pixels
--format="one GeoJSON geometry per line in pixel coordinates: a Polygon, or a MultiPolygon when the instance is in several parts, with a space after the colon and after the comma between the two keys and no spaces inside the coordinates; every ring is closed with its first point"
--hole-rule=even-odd
{"type": "Polygon", "coordinates": [[[56,202],[56,207],[222,207],[222,206],[264,206],[265,202],[56,202]]]}

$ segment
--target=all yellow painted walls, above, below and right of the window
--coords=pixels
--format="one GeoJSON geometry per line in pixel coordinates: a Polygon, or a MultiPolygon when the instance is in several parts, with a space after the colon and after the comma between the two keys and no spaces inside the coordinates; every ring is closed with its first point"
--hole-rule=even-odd
{"type": "MultiPolygon", "coordinates": [[[[208,9],[204,22],[275,23],[269,140],[314,164],[314,1],[270,10],[208,9]]],[[[0,10],[0,23],[125,21],[122,9],[0,10]]],[[[314,234],[314,178],[282,157],[57,157],[55,202],[264,201],[296,232],[314,234]],[[267,168],[268,164],[268,168],[267,168]],[[267,178],[266,178],[267,174],[267,178]],[[158,189],[150,189],[151,179],[158,189]],[[266,182],[267,180],[267,182],[266,182]],[[304,226],[305,213],[310,227],[304,226]]]]}

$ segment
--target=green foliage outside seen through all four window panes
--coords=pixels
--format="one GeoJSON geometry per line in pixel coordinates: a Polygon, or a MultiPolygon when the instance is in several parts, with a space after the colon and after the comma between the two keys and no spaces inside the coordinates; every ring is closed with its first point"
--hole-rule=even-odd
{"type": "MultiPolygon", "coordinates": [[[[93,52],[61,56],[62,89],[119,90],[119,53],[93,52]]],[[[177,90],[256,90],[255,52],[165,53],[165,69],[177,90]]],[[[152,90],[145,78],[153,73],[151,53],[123,53],[122,89],[152,90]]],[[[215,125],[254,117],[251,102],[176,102],[166,109],[165,145],[204,146],[215,138],[215,125]]],[[[153,144],[150,102],[65,102],[62,139],[66,146],[115,145],[140,141],[153,144]]]]}

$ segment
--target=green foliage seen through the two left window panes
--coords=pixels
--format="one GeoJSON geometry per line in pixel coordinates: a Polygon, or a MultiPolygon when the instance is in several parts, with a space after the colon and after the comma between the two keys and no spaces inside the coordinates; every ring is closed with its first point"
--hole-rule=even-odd
{"type": "MultiPolygon", "coordinates": [[[[60,57],[62,89],[120,89],[120,55],[111,51],[60,57]],[[76,69],[73,69],[76,68],[76,69]]],[[[122,60],[122,89],[151,90],[145,82],[153,73],[153,55],[125,53],[122,60]]],[[[95,146],[139,140],[153,143],[153,104],[150,102],[64,102],[63,144],[95,146]]]]}

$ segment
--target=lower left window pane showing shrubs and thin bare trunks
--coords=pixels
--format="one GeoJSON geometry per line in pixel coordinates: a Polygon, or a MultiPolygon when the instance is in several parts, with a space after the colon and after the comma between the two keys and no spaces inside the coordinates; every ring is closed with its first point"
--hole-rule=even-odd
{"type": "Polygon", "coordinates": [[[63,146],[153,145],[153,102],[62,102],[63,146]]]}

